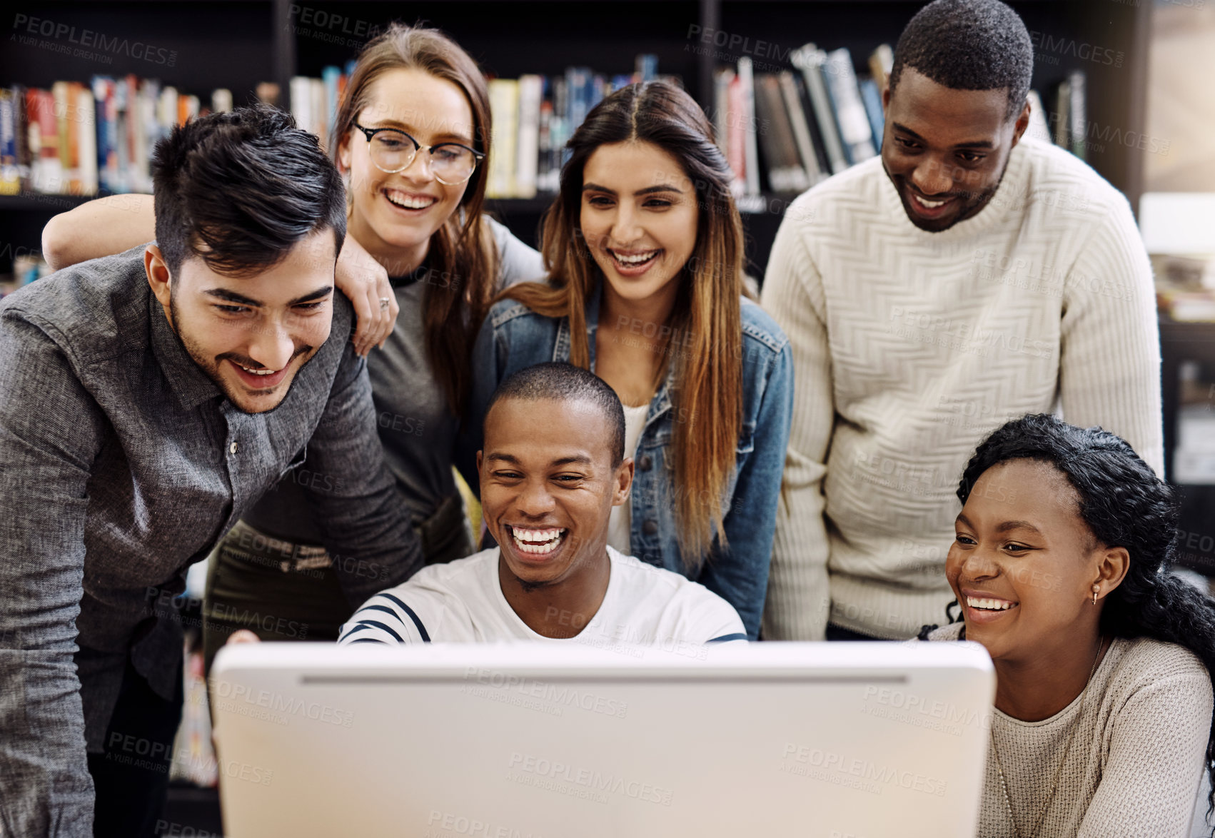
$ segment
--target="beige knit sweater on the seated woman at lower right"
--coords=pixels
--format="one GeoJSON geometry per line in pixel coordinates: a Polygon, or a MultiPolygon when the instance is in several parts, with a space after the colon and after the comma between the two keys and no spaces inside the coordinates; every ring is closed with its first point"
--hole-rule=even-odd
{"type": "MultiPolygon", "coordinates": [[[[929,640],[956,640],[961,623],[929,640]]],[[[1118,639],[1079,696],[1049,719],[993,708],[991,740],[1022,836],[1047,798],[1072,726],[1079,725],[1038,838],[1186,838],[1211,725],[1211,679],[1188,649],[1118,639]]],[[[1202,806],[1205,811],[1205,805],[1202,806]]],[[[982,838],[1012,838],[1008,804],[988,749],[982,838]]]]}

